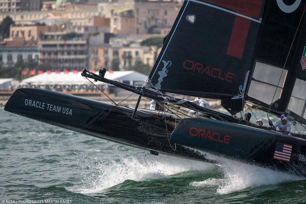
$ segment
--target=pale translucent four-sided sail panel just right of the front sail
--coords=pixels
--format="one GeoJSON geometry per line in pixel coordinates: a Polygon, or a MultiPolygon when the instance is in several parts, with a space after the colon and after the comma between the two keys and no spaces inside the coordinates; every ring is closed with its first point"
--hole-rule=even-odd
{"type": "Polygon", "coordinates": [[[257,61],[252,75],[254,79],[251,81],[248,96],[263,103],[271,104],[276,90],[273,99],[273,102],[275,102],[281,97],[287,72],[288,70],[282,70],[282,68],[257,61]]]}

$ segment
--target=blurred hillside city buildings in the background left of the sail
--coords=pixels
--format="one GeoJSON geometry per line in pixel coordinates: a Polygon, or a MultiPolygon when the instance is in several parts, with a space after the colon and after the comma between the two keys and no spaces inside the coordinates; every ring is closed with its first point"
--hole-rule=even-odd
{"type": "Polygon", "coordinates": [[[14,21],[0,42],[0,66],[35,60],[59,71],[152,67],[161,46],[141,42],[166,36],[181,7],[174,0],[33,2],[0,0],[0,21],[14,21]]]}

